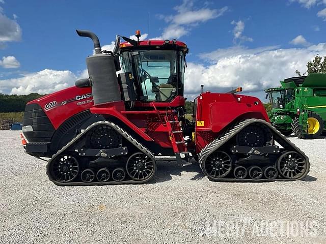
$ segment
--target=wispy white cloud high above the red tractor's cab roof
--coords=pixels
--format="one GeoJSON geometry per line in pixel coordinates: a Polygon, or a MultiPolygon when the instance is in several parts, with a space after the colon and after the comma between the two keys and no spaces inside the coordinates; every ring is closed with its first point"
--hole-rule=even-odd
{"type": "Polygon", "coordinates": [[[156,39],[173,39],[187,35],[194,26],[222,16],[228,7],[221,9],[209,9],[207,7],[196,9],[192,0],[183,0],[182,4],[174,7],[175,15],[157,15],[169,25],[164,29],[161,37],[156,39]]]}

